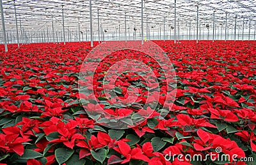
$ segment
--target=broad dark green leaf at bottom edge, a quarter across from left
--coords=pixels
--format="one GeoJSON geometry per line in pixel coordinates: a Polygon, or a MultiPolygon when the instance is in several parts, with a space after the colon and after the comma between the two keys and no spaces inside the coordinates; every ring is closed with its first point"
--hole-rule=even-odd
{"type": "Polygon", "coordinates": [[[55,157],[59,164],[63,164],[71,157],[73,153],[74,150],[68,148],[58,148],[55,150],[55,157]]]}

